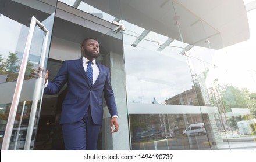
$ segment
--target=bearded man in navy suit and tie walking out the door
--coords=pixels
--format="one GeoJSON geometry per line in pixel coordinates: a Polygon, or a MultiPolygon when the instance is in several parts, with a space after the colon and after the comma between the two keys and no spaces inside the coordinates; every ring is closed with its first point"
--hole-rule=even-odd
{"type": "Polygon", "coordinates": [[[67,83],[68,91],[62,103],[59,121],[66,150],[97,149],[98,133],[103,119],[102,94],[112,117],[111,132],[117,132],[119,127],[110,71],[95,61],[99,57],[98,41],[95,38],[84,39],[81,51],[83,57],[65,61],[52,82],[47,80],[48,71],[45,75],[45,94],[56,94],[67,83]],[[88,73],[91,75],[87,76],[88,73]]]}

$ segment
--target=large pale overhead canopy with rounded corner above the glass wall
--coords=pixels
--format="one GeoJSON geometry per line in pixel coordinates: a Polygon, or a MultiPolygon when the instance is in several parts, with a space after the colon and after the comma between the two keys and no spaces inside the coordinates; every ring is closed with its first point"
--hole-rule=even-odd
{"type": "Polygon", "coordinates": [[[181,32],[183,41],[190,45],[221,49],[249,39],[243,0],[121,0],[121,15],[110,10],[112,3],[104,0],[83,1],[119,19],[172,39],[182,41],[181,32]]]}

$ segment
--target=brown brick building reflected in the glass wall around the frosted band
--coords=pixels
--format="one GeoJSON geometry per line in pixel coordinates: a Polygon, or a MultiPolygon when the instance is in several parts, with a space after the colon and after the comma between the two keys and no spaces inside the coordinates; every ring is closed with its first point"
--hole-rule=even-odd
{"type": "MultiPolygon", "coordinates": [[[[201,80],[201,84],[195,83],[192,89],[186,90],[183,93],[175,95],[172,98],[166,100],[166,104],[170,105],[188,105],[188,109],[194,109],[194,106],[212,106],[209,101],[209,95],[205,87],[205,82],[201,80]]],[[[201,109],[201,108],[200,108],[201,109]]],[[[215,115],[205,114],[183,114],[183,115],[168,115],[169,120],[172,121],[173,126],[176,127],[178,134],[182,134],[184,128],[190,126],[190,124],[204,123],[208,132],[218,131],[218,127],[221,126],[215,115]],[[176,117],[175,117],[176,116],[176,117]],[[175,123],[175,124],[174,124],[175,123]]],[[[221,138],[218,133],[208,135],[210,141],[215,143],[221,143],[221,138]]]]}

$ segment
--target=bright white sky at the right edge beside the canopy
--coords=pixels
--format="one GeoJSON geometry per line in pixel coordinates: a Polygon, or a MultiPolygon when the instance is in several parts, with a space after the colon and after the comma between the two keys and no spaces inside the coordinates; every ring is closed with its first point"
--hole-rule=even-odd
{"type": "Polygon", "coordinates": [[[256,9],[247,12],[250,39],[216,51],[219,57],[215,62],[219,67],[226,69],[227,75],[220,80],[232,82],[237,87],[247,87],[251,92],[256,92],[256,9]],[[229,61],[227,61],[229,60],[229,61]]]}

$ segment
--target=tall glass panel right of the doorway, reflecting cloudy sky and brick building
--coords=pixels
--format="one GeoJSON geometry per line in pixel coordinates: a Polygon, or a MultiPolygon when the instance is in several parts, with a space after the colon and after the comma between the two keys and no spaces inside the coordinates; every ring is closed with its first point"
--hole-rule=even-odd
{"type": "Polygon", "coordinates": [[[198,139],[208,141],[205,128],[194,133],[194,137],[183,135],[189,124],[203,123],[199,104],[191,99],[197,101],[197,95],[187,58],[180,54],[184,43],[170,41],[170,45],[167,43],[164,50],[158,51],[160,40],[164,44],[169,38],[148,32],[138,42],[136,38],[143,35],[144,30],[125,21],[122,23],[126,26],[123,39],[132,149],[209,149],[208,145],[198,146],[196,142],[198,139]],[[132,32],[129,27],[133,27],[132,32]],[[191,109],[197,111],[191,112],[191,109]],[[189,139],[194,144],[189,145],[189,139]]]}

